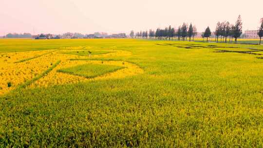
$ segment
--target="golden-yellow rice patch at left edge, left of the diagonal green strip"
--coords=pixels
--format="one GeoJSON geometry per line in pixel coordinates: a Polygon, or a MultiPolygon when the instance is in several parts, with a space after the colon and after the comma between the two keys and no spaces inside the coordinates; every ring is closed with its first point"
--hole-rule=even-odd
{"type": "Polygon", "coordinates": [[[47,51],[2,53],[9,60],[0,60],[0,94],[15,89],[19,84],[41,74],[47,70],[55,59],[44,60],[48,55],[16,63],[23,58],[30,58],[46,53],[47,51]]]}

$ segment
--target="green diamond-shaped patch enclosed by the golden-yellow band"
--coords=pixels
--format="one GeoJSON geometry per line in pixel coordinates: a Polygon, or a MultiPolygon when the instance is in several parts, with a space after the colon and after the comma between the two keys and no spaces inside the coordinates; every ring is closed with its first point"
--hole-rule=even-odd
{"type": "Polygon", "coordinates": [[[57,70],[60,73],[74,74],[78,76],[83,76],[86,78],[94,78],[107,73],[112,73],[114,71],[123,69],[125,67],[114,66],[114,65],[100,65],[100,64],[84,64],[75,67],[65,68],[57,70]]]}

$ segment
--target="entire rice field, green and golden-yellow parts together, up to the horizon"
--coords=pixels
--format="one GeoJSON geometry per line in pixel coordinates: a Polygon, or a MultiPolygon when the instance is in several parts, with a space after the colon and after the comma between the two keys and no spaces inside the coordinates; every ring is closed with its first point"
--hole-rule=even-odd
{"type": "Polygon", "coordinates": [[[262,148],[263,46],[0,39],[1,148],[262,148]]]}

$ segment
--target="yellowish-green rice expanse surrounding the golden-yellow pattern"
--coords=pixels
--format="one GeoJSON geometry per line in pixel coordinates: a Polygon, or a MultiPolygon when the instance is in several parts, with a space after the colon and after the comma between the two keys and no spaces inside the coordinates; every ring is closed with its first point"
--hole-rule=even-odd
{"type": "MultiPolygon", "coordinates": [[[[11,50],[6,44],[12,41],[1,51],[35,49],[23,44],[11,50]]],[[[132,55],[101,59],[136,63],[145,73],[10,92],[0,98],[0,147],[263,147],[263,59],[205,48],[263,46],[136,39],[18,42],[42,49],[51,42],[52,49],[115,46],[132,55]],[[174,43],[203,47],[157,45],[174,43]]]]}

